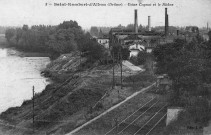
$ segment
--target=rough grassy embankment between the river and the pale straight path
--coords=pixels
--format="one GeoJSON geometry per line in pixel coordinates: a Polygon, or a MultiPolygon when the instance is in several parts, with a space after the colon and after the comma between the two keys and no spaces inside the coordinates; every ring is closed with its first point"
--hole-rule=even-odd
{"type": "MultiPolygon", "coordinates": [[[[80,60],[77,52],[62,55],[53,61],[44,73],[54,83],[34,98],[35,134],[67,133],[154,82],[154,77],[147,72],[133,75],[123,67],[124,87],[121,89],[119,71],[120,68],[116,65],[116,87],[112,90],[111,65],[94,63],[88,67],[86,58],[80,60]]],[[[10,124],[31,129],[32,116],[32,100],[28,100],[20,107],[3,112],[0,117],[10,124]]],[[[33,134],[18,128],[5,127],[4,130],[11,134],[33,134]]]]}

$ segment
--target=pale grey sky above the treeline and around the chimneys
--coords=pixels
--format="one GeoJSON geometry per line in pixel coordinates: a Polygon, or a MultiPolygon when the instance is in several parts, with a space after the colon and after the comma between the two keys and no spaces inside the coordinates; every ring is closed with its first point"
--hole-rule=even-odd
{"type": "Polygon", "coordinates": [[[134,9],[138,10],[138,23],[146,26],[151,16],[152,26],[164,25],[164,12],[168,8],[169,25],[211,25],[211,0],[0,0],[0,26],[58,25],[75,20],[84,29],[91,26],[126,26],[134,23],[134,9]],[[133,4],[156,6],[128,6],[133,4]],[[47,3],[47,6],[46,6],[47,3]],[[123,6],[54,6],[54,3],[117,3],[123,6]],[[158,6],[170,3],[173,6],[158,6]],[[52,5],[49,5],[52,4],[52,5]]]}

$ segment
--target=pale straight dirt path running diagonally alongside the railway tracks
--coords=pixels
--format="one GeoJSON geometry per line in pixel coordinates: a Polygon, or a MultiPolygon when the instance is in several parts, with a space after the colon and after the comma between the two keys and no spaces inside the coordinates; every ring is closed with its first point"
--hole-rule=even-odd
{"type": "Polygon", "coordinates": [[[151,84],[150,86],[141,89],[138,92],[135,92],[134,94],[132,94],[131,96],[127,97],[124,101],[116,104],[115,106],[111,107],[110,109],[106,110],[105,112],[103,112],[102,114],[98,115],[97,117],[91,119],[90,121],[84,123],[83,125],[81,125],[80,127],[74,129],[73,131],[67,133],[66,135],[72,135],[76,132],[78,132],[79,130],[81,130],[82,128],[84,128],[85,126],[91,124],[92,122],[98,120],[99,118],[101,118],[102,116],[106,115],[107,113],[111,112],[112,110],[116,109],[117,107],[121,106],[122,104],[124,104],[125,102],[127,102],[128,100],[132,99],[133,97],[137,96],[138,94],[145,92],[146,90],[150,89],[151,87],[153,87],[155,85],[155,83],[151,84]]]}

